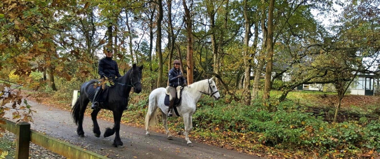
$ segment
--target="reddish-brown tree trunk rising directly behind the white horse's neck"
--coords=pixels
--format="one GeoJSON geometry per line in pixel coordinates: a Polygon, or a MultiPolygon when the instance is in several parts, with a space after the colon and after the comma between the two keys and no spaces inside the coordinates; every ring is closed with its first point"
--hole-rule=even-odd
{"type": "MultiPolygon", "coordinates": [[[[182,0],[185,9],[185,23],[186,23],[186,33],[187,33],[187,85],[194,82],[193,76],[193,33],[192,33],[192,20],[190,15],[190,10],[187,8],[186,1],[182,0]]],[[[191,2],[190,2],[191,3],[191,2]]]]}

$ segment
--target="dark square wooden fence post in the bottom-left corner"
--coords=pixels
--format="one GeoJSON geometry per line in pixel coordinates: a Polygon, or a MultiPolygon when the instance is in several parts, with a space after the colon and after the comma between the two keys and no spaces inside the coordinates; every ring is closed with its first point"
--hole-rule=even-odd
{"type": "Polygon", "coordinates": [[[16,125],[16,159],[29,158],[30,124],[21,122],[16,125]]]}

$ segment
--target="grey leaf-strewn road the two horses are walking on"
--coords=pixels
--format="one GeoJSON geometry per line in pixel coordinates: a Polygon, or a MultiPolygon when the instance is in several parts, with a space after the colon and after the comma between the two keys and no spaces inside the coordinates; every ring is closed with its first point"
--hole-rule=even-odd
{"type": "MultiPolygon", "coordinates": [[[[166,139],[167,135],[151,132],[151,136],[145,136],[145,130],[131,126],[120,126],[120,137],[125,148],[112,147],[114,135],[97,138],[92,133],[92,120],[84,118],[83,129],[85,137],[78,137],[76,125],[73,123],[71,114],[57,108],[52,108],[28,101],[37,113],[33,114],[34,123],[32,129],[45,132],[47,135],[65,140],[95,153],[110,158],[142,158],[142,159],[168,159],[168,158],[234,158],[234,159],[258,159],[257,156],[242,154],[236,151],[196,143],[194,147],[188,147],[184,137],[174,137],[173,140],[166,139]]],[[[9,115],[9,113],[7,114],[9,115]]],[[[112,122],[99,120],[101,133],[105,128],[112,127],[112,122]]],[[[175,132],[172,132],[172,134],[175,132]]],[[[103,136],[103,134],[101,134],[103,136]]],[[[191,139],[190,139],[191,140],[191,139]]]]}

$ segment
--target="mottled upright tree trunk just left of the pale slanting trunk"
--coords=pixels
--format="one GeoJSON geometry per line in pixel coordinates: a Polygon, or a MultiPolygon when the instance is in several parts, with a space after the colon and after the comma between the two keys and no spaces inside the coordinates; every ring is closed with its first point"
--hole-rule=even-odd
{"type": "Polygon", "coordinates": [[[248,5],[247,0],[244,0],[244,45],[243,45],[243,60],[244,60],[244,82],[243,82],[243,99],[245,105],[251,104],[251,90],[250,90],[250,76],[251,76],[251,60],[249,51],[249,39],[250,39],[250,17],[248,17],[248,5]]]}

